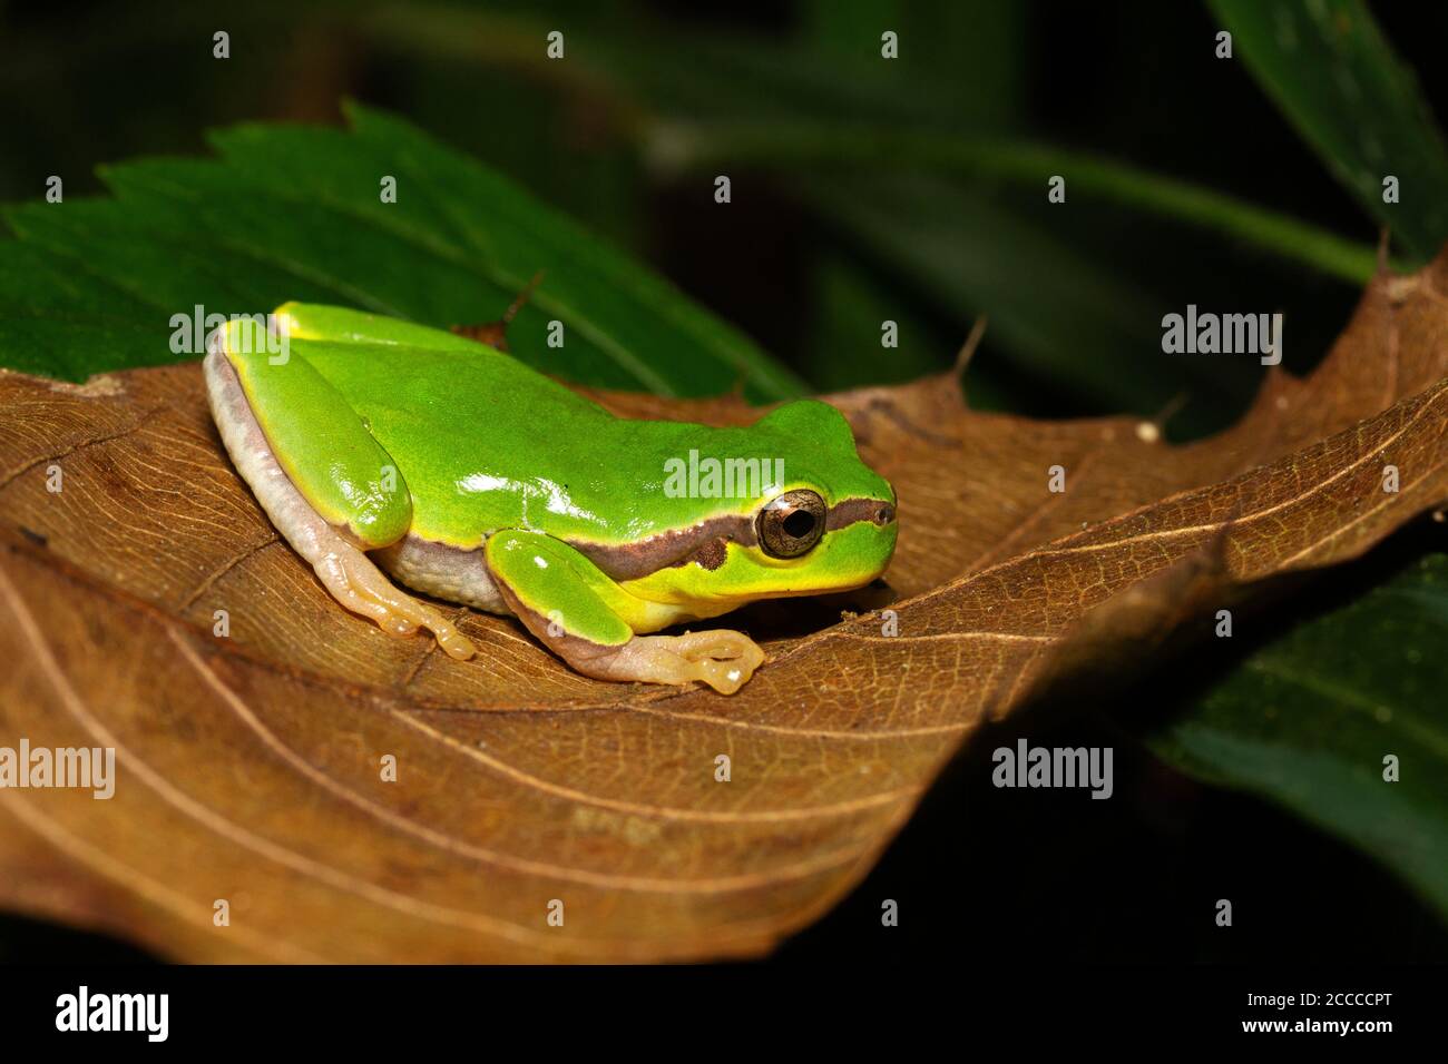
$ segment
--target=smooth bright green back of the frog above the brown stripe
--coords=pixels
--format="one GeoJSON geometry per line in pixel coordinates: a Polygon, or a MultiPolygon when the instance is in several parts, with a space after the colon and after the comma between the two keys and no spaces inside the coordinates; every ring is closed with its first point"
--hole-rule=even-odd
{"type": "Polygon", "coordinates": [[[473,340],[332,307],[282,313],[295,321],[291,355],[346,398],[397,462],[424,539],[478,546],[498,528],[536,528],[628,543],[757,505],[757,497],[668,491],[669,469],[688,466],[691,452],[696,462],[780,460],[785,484],[773,491],[892,498],[825,404],[788,404],[747,428],[617,418],[473,340]]]}

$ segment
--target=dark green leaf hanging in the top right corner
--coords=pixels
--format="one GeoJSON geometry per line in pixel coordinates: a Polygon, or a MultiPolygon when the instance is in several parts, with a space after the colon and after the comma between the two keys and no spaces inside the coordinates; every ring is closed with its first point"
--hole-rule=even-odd
{"type": "Polygon", "coordinates": [[[1332,175],[1418,258],[1448,239],[1448,151],[1361,0],[1208,0],[1234,55],[1332,175]],[[1383,203],[1383,178],[1402,200],[1383,203]]]}

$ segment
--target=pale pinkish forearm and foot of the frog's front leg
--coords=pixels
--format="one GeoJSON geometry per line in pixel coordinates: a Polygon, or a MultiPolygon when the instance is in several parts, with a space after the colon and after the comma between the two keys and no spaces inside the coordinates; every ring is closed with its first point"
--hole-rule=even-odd
{"type": "Polygon", "coordinates": [[[559,647],[568,663],[585,676],[644,683],[708,683],[733,695],[763,664],[765,651],[738,631],[692,631],[683,636],[634,636],[621,647],[599,647],[582,640],[559,647]]]}

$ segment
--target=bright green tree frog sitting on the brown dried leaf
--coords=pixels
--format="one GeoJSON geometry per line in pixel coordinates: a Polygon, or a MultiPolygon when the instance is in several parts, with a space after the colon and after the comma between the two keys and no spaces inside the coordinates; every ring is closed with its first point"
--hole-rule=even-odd
{"type": "Polygon", "coordinates": [[[825,402],[623,418],[466,334],[298,303],[217,329],[204,372],[232,462],[332,596],[456,659],[468,637],[388,575],[517,617],[588,676],[733,693],[753,640],[652,633],[859,588],[895,550],[895,492],[825,402]]]}

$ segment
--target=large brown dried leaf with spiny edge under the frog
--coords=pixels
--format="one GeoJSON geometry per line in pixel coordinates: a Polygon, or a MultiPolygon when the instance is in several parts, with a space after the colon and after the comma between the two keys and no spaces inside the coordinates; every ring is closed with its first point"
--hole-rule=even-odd
{"type": "Polygon", "coordinates": [[[343,612],[232,472],[194,365],[3,375],[0,743],[113,746],[119,782],[110,801],[0,790],[0,900],[185,960],[757,954],[847,892],[941,761],[1083,636],[1348,559],[1448,497],[1442,292],[1442,259],[1378,278],[1318,372],[1271,376],[1186,447],[1125,418],[972,413],[948,378],[833,397],[899,491],[899,636],[872,614],[778,636],[734,698],[594,682],[466,609],[462,664],[343,612]]]}

